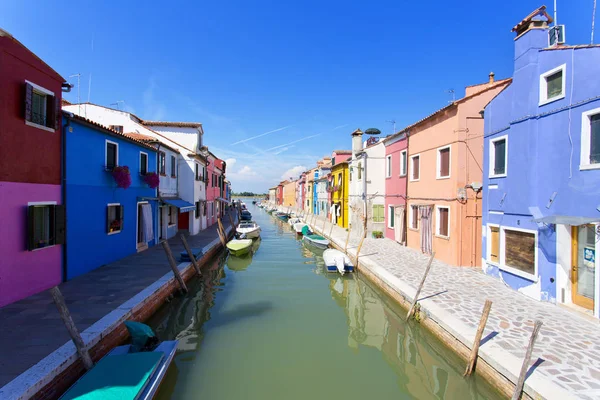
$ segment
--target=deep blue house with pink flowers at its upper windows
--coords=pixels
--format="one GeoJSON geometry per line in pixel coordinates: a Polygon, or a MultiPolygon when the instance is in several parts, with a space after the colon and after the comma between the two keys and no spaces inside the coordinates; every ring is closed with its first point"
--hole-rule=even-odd
{"type": "MultiPolygon", "coordinates": [[[[72,279],[153,246],[157,195],[145,179],[156,170],[156,149],[83,117],[63,113],[67,249],[72,279]],[[131,184],[118,187],[119,167],[131,184]]],[[[156,178],[157,176],[155,176],[156,178]]],[[[127,179],[125,179],[126,181],[127,179]]]]}

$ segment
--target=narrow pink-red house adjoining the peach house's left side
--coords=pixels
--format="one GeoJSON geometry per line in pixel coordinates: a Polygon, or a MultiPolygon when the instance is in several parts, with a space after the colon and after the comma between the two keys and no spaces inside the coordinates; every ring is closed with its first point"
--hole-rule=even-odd
{"type": "Polygon", "coordinates": [[[385,236],[406,244],[406,134],[395,133],[383,140],[385,146],[385,236]]]}

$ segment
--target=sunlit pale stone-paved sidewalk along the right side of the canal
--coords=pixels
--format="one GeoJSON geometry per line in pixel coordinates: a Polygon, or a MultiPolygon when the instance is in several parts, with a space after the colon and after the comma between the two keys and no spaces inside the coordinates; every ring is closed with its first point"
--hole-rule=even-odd
{"type": "MultiPolygon", "coordinates": [[[[308,218],[309,222],[311,218],[308,218]]],[[[314,223],[321,232],[324,219],[314,223]]],[[[324,234],[329,236],[331,223],[324,234]]],[[[334,227],[332,240],[344,247],[347,231],[334,227]]],[[[351,235],[348,253],[359,238],[351,235]]],[[[365,239],[360,263],[405,297],[414,298],[429,256],[390,239],[365,239]]],[[[485,275],[479,268],[452,267],[434,260],[419,303],[430,318],[471,347],[483,304],[493,301],[480,356],[513,382],[519,374],[535,320],[537,338],[528,394],[548,399],[600,399],[600,324],[562,307],[537,302],[485,275]]]]}

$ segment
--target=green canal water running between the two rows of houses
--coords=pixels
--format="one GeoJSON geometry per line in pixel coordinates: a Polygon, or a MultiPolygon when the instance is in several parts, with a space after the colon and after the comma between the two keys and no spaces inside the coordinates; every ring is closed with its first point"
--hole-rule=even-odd
{"type": "Polygon", "coordinates": [[[246,201],[254,255],[223,255],[150,321],[179,339],[159,399],[499,399],[360,274],[323,271],[287,223],[246,201]]]}

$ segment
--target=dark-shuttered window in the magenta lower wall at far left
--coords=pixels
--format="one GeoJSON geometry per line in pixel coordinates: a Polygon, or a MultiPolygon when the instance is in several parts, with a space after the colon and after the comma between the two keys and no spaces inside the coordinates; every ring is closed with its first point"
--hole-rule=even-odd
{"type": "Polygon", "coordinates": [[[65,206],[29,203],[27,207],[27,250],[65,243],[65,206]]]}

